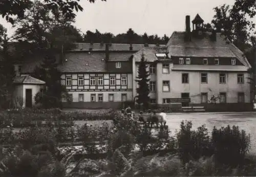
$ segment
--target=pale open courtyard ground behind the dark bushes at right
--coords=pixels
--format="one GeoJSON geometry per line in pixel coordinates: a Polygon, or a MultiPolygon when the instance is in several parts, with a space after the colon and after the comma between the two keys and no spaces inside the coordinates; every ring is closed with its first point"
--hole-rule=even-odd
{"type": "Polygon", "coordinates": [[[256,154],[256,112],[245,113],[174,113],[167,115],[167,125],[174,135],[176,129],[180,129],[182,120],[191,120],[193,129],[205,124],[209,131],[214,126],[238,125],[240,129],[244,129],[246,134],[250,134],[251,149],[250,153],[256,154]]]}

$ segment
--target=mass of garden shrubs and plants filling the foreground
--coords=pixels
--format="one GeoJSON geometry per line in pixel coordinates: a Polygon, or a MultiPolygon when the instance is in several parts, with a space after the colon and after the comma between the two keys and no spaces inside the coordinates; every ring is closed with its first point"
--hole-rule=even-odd
{"type": "Polygon", "coordinates": [[[176,136],[170,137],[168,129],[159,128],[153,132],[149,127],[141,126],[136,119],[121,116],[115,117],[111,129],[105,123],[96,128],[84,125],[77,132],[77,137],[83,142],[81,151],[91,153],[91,157],[108,153],[101,160],[91,160],[87,155],[77,154],[80,150],[71,147],[61,158],[56,149],[60,139],[56,131],[46,127],[30,128],[20,139],[24,153],[15,149],[10,151],[16,155],[3,153],[1,160],[4,165],[0,165],[0,169],[3,170],[2,174],[16,174],[18,170],[30,167],[27,173],[18,171],[27,176],[256,175],[256,160],[246,158],[250,139],[244,130],[230,126],[215,127],[212,136],[208,136],[205,125],[196,130],[191,128],[191,122],[182,121],[176,136]],[[95,141],[99,144],[95,144],[95,141]],[[134,150],[136,147],[137,151],[134,150]],[[25,163],[26,167],[20,166],[25,163]]]}

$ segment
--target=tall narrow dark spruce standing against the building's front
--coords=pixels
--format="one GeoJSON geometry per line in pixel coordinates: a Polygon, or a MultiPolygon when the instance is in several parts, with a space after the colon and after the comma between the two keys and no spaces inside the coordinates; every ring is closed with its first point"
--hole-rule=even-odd
{"type": "Polygon", "coordinates": [[[148,94],[150,94],[150,89],[148,87],[148,81],[150,81],[150,79],[148,79],[148,76],[150,76],[150,74],[148,73],[148,71],[146,71],[146,61],[144,58],[144,54],[141,55],[141,60],[140,60],[140,64],[139,64],[139,71],[138,71],[138,77],[136,82],[138,82],[139,87],[136,89],[138,96],[136,102],[138,104],[143,104],[143,108],[148,108],[149,107],[149,102],[150,102],[150,97],[148,96],[148,94]]]}

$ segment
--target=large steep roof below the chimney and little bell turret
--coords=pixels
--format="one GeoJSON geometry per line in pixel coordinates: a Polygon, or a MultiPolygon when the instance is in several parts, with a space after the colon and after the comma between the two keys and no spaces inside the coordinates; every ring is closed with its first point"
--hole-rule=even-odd
{"type": "Polygon", "coordinates": [[[220,33],[216,35],[216,41],[212,41],[210,34],[206,33],[203,39],[192,37],[188,42],[184,40],[185,32],[174,32],[166,45],[168,55],[169,57],[236,57],[246,67],[250,67],[243,53],[233,43],[226,43],[225,37],[220,33]]]}

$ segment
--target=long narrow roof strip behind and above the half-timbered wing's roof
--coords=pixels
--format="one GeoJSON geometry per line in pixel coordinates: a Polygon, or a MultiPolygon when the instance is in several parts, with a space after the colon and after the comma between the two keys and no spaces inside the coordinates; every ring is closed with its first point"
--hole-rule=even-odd
{"type": "MultiPolygon", "coordinates": [[[[104,51],[105,44],[101,45],[101,43],[75,43],[75,48],[72,51],[89,51],[90,48],[93,51],[104,51]]],[[[165,46],[165,45],[160,45],[165,46]]],[[[143,44],[133,44],[132,45],[134,52],[139,51],[140,49],[144,48],[143,44]]],[[[148,47],[156,47],[156,45],[148,45],[148,47]]],[[[110,51],[130,51],[130,44],[129,43],[112,43],[109,47],[110,51]]]]}

